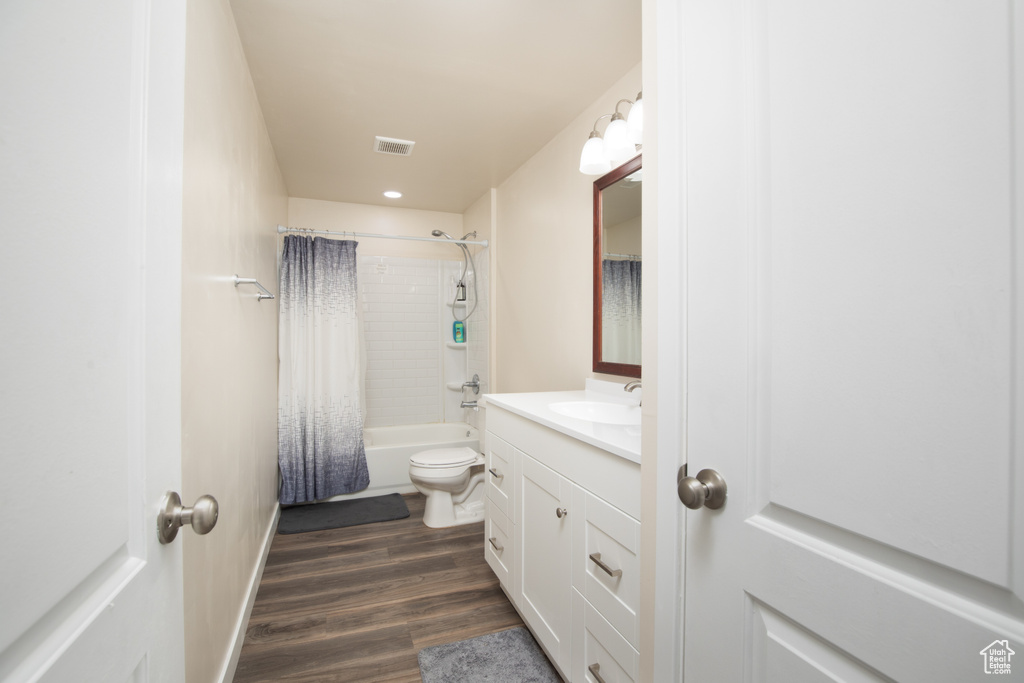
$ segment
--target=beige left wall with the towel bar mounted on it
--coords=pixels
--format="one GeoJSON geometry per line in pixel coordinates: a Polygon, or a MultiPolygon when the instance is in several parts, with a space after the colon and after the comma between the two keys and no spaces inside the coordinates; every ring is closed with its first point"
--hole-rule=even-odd
{"type": "MultiPolygon", "coordinates": [[[[288,198],[226,0],[189,0],[182,206],[182,499],[220,519],[184,541],[188,683],[230,672],[278,496],[276,225],[288,198]]],[[[229,678],[227,679],[229,680],[229,678]]]]}

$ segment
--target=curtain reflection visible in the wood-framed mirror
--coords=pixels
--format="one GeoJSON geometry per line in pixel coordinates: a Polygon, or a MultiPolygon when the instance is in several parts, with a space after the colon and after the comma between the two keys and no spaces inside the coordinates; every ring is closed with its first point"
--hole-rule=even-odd
{"type": "Polygon", "coordinates": [[[601,355],[607,362],[640,364],[640,261],[601,263],[601,355]]]}

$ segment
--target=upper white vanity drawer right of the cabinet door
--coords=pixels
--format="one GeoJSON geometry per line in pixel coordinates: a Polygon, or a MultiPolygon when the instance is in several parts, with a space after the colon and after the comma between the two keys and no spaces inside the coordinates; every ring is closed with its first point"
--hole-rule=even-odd
{"type": "Polygon", "coordinates": [[[572,528],[572,585],[635,648],[640,603],[640,522],[589,492],[572,528]],[[581,518],[582,517],[582,518],[581,518]]]}

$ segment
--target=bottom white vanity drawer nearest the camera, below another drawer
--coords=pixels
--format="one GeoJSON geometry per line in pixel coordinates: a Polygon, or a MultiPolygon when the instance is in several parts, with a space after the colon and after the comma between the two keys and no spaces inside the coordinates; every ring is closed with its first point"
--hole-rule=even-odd
{"type": "Polygon", "coordinates": [[[635,683],[640,655],[578,591],[572,591],[572,681],[635,683]],[[600,677],[600,678],[598,678],[600,677]]]}

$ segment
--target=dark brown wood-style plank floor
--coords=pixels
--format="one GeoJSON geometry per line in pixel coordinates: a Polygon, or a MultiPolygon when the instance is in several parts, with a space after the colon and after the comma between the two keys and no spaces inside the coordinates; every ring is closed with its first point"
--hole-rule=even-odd
{"type": "Polygon", "coordinates": [[[420,683],[424,647],[521,626],[483,559],[483,523],[407,519],[275,535],[234,683],[420,683]]]}

